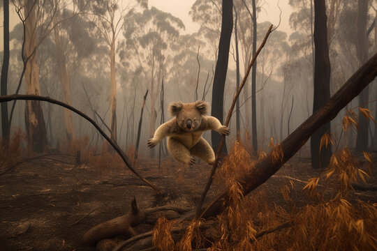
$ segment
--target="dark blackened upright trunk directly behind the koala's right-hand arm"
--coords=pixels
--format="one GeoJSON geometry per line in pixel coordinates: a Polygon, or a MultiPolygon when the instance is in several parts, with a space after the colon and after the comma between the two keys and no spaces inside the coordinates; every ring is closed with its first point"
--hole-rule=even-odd
{"type": "MultiPolygon", "coordinates": [[[[223,101],[226,73],[228,70],[230,38],[233,29],[233,1],[223,0],[223,17],[221,22],[221,35],[219,41],[219,56],[216,62],[214,85],[212,86],[212,110],[211,115],[223,123],[223,101]]],[[[212,148],[217,151],[221,135],[212,131],[212,148]]],[[[222,153],[226,153],[226,144],[223,144],[222,153]]]]}

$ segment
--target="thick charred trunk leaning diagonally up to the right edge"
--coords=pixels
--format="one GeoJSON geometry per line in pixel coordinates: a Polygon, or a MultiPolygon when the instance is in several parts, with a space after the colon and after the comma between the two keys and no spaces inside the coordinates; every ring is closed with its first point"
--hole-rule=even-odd
{"type": "MultiPolygon", "coordinates": [[[[283,164],[289,160],[297,151],[304,146],[313,132],[318,130],[323,124],[329,123],[345,107],[348,102],[353,100],[373,79],[377,76],[377,54],[374,54],[367,63],[356,71],[347,82],[330,98],[320,109],[314,112],[304,123],[281,142],[281,158],[276,160],[272,151],[265,158],[256,162],[255,167],[246,174],[241,181],[244,195],[258,188],[274,175],[283,164]]],[[[275,154],[276,155],[276,154],[275,154]]],[[[222,192],[207,204],[207,208],[202,213],[202,218],[209,218],[218,215],[228,202],[227,191],[222,192]]]]}

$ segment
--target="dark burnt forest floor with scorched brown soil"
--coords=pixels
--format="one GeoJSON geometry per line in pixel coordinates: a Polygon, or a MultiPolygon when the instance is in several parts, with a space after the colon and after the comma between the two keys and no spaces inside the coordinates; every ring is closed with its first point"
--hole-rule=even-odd
{"type": "MultiPolygon", "coordinates": [[[[375,186],[376,157],[369,180],[375,186]]],[[[0,176],[0,250],[94,250],[81,243],[84,232],[126,213],[133,196],[142,208],[194,206],[210,172],[204,164],[190,168],[168,160],[158,169],[158,160],[140,160],[138,172],[164,191],[164,196],[158,197],[120,165],[98,169],[76,166],[74,162],[72,156],[49,155],[24,162],[0,176]]],[[[295,204],[304,206],[308,197],[302,191],[303,181],[319,174],[311,169],[309,158],[293,158],[258,189],[265,190],[272,203],[284,206],[279,191],[282,185],[293,181],[295,204]]],[[[208,198],[213,198],[219,189],[212,186],[208,198]]],[[[356,191],[353,197],[377,202],[376,191],[356,191]]],[[[150,230],[157,217],[152,216],[135,230],[150,230]]]]}

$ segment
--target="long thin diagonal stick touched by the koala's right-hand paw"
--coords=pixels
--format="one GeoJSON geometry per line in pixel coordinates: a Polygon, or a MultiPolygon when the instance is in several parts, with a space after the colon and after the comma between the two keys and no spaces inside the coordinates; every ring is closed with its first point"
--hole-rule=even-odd
{"type": "MultiPolygon", "coordinates": [[[[247,68],[246,74],[244,75],[244,79],[242,79],[242,83],[239,86],[239,88],[237,90],[237,93],[235,94],[235,97],[233,98],[232,105],[230,105],[228,116],[226,118],[226,123],[224,124],[225,126],[228,126],[228,124],[229,124],[230,117],[232,116],[233,109],[235,108],[235,103],[237,102],[237,98],[239,96],[239,93],[241,93],[242,88],[244,87],[244,85],[246,83],[246,79],[249,76],[249,73],[250,73],[250,70],[251,70],[251,66],[253,66],[254,61],[256,61],[256,58],[258,57],[258,54],[260,53],[260,50],[262,50],[262,48],[265,46],[265,43],[266,43],[267,38],[268,38],[269,34],[271,33],[271,31],[272,31],[272,24],[271,24],[271,26],[269,26],[269,29],[268,29],[268,31],[267,31],[267,33],[265,35],[265,38],[263,39],[262,44],[259,46],[258,50],[256,51],[256,54],[253,56],[253,59],[251,59],[251,62],[249,63],[249,67],[247,68]]],[[[200,211],[202,210],[202,204],[203,204],[203,202],[205,200],[205,196],[207,195],[207,192],[208,192],[209,188],[212,185],[212,181],[214,179],[214,174],[216,172],[216,168],[219,165],[219,157],[220,157],[220,153],[221,153],[221,147],[223,146],[224,141],[225,141],[225,136],[223,135],[223,137],[221,137],[221,142],[219,144],[219,149],[217,149],[216,159],[214,161],[214,165],[212,166],[212,171],[211,171],[211,174],[209,175],[207,185],[205,186],[205,190],[203,191],[202,197],[200,197],[200,201],[199,201],[198,207],[196,208],[195,218],[197,218],[197,219],[200,218],[199,216],[200,216],[200,211]]]]}

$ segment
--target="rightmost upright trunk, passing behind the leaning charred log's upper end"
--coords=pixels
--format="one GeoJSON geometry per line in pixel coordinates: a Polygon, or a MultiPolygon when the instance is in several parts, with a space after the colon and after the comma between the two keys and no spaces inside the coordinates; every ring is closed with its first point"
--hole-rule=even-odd
{"type": "MultiPolygon", "coordinates": [[[[357,59],[362,66],[368,59],[368,38],[367,38],[367,17],[368,17],[368,0],[357,1],[357,59]]],[[[368,87],[360,93],[360,108],[368,108],[368,87]]],[[[357,130],[356,151],[368,151],[368,128],[367,118],[362,116],[359,110],[359,128],[357,130]]]]}

